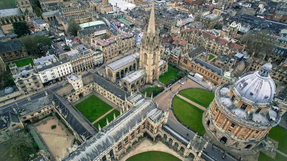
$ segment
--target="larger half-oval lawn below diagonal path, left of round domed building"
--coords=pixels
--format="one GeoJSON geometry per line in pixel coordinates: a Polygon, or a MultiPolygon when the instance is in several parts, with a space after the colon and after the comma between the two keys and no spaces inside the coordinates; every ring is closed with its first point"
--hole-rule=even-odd
{"type": "Polygon", "coordinates": [[[176,117],[199,134],[204,135],[205,130],[202,125],[203,110],[197,108],[195,105],[175,96],[172,101],[172,108],[176,117]]]}

